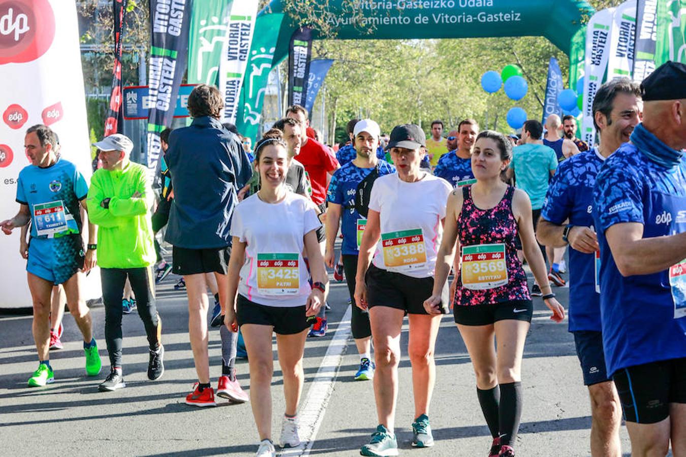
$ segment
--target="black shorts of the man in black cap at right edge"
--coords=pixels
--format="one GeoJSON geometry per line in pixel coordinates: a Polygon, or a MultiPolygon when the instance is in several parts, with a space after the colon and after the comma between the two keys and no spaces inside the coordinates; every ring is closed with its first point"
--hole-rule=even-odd
{"type": "Polygon", "coordinates": [[[670,403],[686,403],[686,357],[619,369],[612,378],[627,422],[656,423],[670,416],[670,403]]]}

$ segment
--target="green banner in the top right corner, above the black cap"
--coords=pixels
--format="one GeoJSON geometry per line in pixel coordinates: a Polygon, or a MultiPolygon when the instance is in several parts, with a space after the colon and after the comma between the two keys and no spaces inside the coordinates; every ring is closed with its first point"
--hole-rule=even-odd
{"type": "Polygon", "coordinates": [[[659,1],[655,66],[672,60],[686,64],[686,0],[659,1]]]}

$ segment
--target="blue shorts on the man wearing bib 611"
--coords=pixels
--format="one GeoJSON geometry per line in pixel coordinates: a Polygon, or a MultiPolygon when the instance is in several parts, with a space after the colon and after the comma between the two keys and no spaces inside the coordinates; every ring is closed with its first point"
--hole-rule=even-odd
{"type": "Polygon", "coordinates": [[[32,237],[26,271],[53,284],[62,284],[83,268],[85,256],[80,234],[60,238],[32,237]]]}

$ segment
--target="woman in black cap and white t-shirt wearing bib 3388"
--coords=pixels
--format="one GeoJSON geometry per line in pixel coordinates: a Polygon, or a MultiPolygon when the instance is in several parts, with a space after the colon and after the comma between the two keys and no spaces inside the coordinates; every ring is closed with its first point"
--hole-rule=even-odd
{"type": "Polygon", "coordinates": [[[355,301],[359,308],[369,310],[379,417],[372,440],[360,451],[363,456],[397,455],[393,428],[405,314],[410,321],[407,351],[412,362],[414,393],[412,445],[434,445],[428,413],[440,316],[429,315],[423,303],[434,286],[436,251],[443,231],[445,203],[452,188],[445,180],[420,169],[425,138],[418,125],[398,125],[391,132],[388,149],[398,173],[375,180],[359,248],[355,301]]]}

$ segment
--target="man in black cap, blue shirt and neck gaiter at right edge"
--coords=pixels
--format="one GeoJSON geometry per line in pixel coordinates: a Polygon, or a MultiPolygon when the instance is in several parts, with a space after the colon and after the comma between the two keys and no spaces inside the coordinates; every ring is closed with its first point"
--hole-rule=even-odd
{"type": "Polygon", "coordinates": [[[641,83],[643,121],[593,190],[608,375],[637,456],[686,455],[686,65],[641,83]]]}

